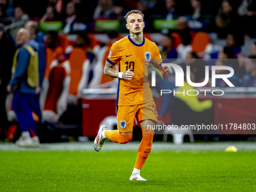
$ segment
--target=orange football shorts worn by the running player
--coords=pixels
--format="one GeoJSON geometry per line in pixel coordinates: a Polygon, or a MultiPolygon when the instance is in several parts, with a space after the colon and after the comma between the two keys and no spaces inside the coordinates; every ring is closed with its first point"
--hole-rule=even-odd
{"type": "Polygon", "coordinates": [[[154,120],[157,123],[157,107],[154,101],[141,105],[118,106],[117,129],[119,133],[133,131],[142,120],[154,120]]]}

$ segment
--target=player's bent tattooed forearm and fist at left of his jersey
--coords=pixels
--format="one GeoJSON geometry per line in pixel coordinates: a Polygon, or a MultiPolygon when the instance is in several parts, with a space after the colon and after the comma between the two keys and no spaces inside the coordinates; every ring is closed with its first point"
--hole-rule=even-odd
{"type": "MultiPolygon", "coordinates": [[[[120,78],[118,77],[119,72],[113,69],[114,65],[112,65],[110,62],[106,61],[105,68],[104,68],[104,74],[108,75],[111,78],[120,78]]],[[[122,74],[122,78],[124,80],[131,80],[133,78],[133,71],[132,69],[129,69],[128,71],[124,72],[122,74]]]]}

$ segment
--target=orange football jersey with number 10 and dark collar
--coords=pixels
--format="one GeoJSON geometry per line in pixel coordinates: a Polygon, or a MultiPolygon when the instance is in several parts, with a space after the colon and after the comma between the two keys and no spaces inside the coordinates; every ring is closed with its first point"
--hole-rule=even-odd
{"type": "Polygon", "coordinates": [[[119,79],[117,87],[117,105],[141,105],[153,100],[148,83],[148,62],[155,59],[160,64],[160,52],[157,45],[143,38],[142,44],[136,44],[130,35],[115,42],[107,61],[118,65],[118,72],[132,68],[132,80],[119,79]],[[145,61],[145,62],[144,62],[145,61]]]}

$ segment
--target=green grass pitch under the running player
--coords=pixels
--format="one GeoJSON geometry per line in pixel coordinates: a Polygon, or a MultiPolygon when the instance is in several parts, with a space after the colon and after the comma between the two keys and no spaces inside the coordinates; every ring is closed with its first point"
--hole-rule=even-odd
{"type": "Polygon", "coordinates": [[[256,152],[0,151],[0,191],[256,191],[256,152]]]}

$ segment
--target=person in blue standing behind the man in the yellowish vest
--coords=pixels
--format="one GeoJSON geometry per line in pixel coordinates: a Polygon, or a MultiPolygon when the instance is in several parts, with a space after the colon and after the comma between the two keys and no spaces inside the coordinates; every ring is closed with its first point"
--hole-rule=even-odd
{"type": "Polygon", "coordinates": [[[39,117],[39,121],[41,121],[41,108],[39,103],[39,97],[41,93],[41,87],[44,80],[44,72],[46,65],[46,50],[44,46],[44,34],[42,32],[38,32],[38,23],[35,21],[29,21],[26,23],[26,29],[29,32],[30,41],[28,44],[31,47],[38,47],[38,69],[39,69],[39,85],[35,89],[36,100],[34,103],[34,111],[39,117]]]}

